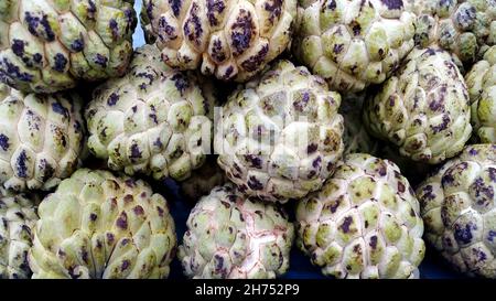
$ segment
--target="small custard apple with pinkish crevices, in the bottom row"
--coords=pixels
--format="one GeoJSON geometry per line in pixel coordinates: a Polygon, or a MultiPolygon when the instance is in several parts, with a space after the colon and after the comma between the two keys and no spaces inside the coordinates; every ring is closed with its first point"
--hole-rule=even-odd
{"type": "Polygon", "coordinates": [[[177,256],[190,278],[276,278],[289,269],[293,237],[281,207],[226,184],[193,208],[177,256]]]}

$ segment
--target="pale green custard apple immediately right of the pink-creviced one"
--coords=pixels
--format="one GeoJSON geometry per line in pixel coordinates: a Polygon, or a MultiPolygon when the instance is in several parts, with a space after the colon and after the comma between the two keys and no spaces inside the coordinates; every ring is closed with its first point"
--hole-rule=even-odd
{"type": "Polygon", "coordinates": [[[369,154],[345,157],[320,192],[298,203],[296,228],[296,245],[336,278],[418,278],[425,252],[408,180],[369,154]]]}

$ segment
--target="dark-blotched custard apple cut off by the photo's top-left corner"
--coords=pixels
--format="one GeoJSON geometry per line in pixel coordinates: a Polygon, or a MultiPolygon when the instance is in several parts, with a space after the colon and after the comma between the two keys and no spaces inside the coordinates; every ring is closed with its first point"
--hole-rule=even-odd
{"type": "Polygon", "coordinates": [[[136,26],[132,0],[4,0],[0,79],[34,93],[125,73],[136,26]]]}

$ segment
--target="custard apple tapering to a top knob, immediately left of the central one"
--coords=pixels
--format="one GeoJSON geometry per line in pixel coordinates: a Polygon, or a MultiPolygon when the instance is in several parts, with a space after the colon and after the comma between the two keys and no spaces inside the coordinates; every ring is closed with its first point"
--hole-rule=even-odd
{"type": "Polygon", "coordinates": [[[184,180],[211,151],[214,104],[194,74],[159,57],[155,46],[139,49],[123,77],[96,89],[85,115],[88,148],[112,170],[184,180]]]}

